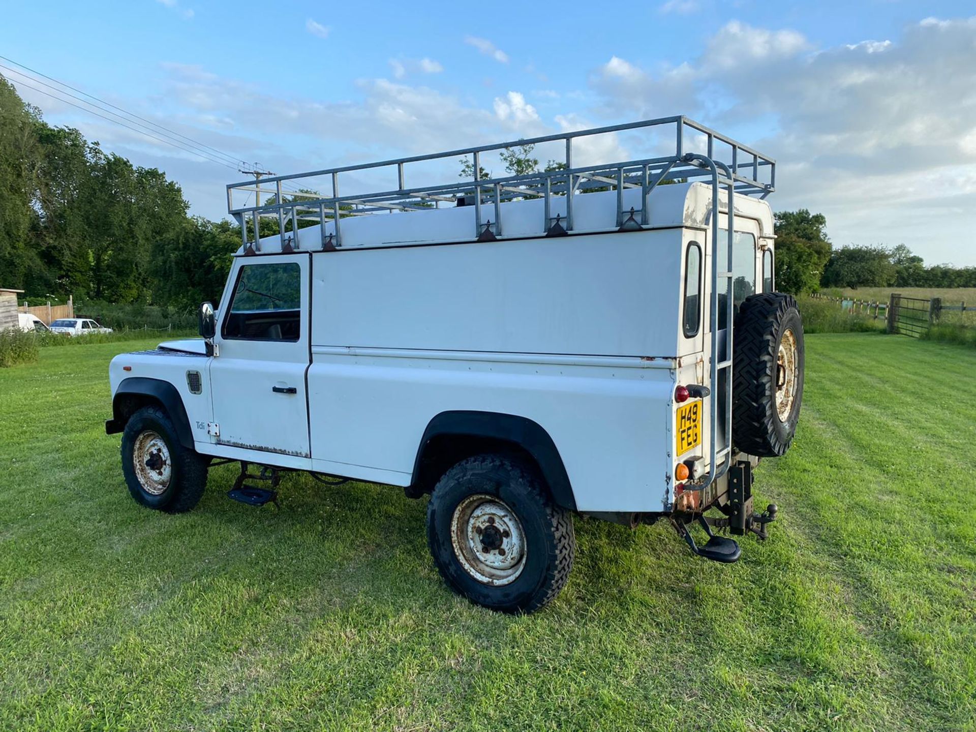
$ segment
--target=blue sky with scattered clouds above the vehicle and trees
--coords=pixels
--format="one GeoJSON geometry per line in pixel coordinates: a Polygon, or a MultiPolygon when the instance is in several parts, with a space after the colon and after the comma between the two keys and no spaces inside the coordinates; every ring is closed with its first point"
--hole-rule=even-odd
{"type": "MultiPolygon", "coordinates": [[[[774,208],[822,211],[835,245],[976,264],[971,2],[5,0],[2,17],[0,56],[276,173],[684,113],[775,156],[774,208]]],[[[224,215],[230,167],[0,73],[224,215]]]]}

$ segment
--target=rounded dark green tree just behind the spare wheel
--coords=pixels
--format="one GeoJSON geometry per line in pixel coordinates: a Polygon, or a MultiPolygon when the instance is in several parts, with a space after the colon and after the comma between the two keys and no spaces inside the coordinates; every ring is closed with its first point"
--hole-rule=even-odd
{"type": "Polygon", "coordinates": [[[831,257],[831,240],[823,214],[807,209],[776,214],[776,287],[799,295],[820,287],[824,267],[831,257]]]}

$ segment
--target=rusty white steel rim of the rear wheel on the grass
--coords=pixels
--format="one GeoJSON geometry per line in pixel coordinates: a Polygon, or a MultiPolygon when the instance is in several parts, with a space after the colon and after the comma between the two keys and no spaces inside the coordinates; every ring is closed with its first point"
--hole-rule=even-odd
{"type": "Polygon", "coordinates": [[[501,587],[525,567],[525,532],[508,505],[495,496],[468,496],[451,517],[451,544],[464,570],[478,582],[501,587]]]}

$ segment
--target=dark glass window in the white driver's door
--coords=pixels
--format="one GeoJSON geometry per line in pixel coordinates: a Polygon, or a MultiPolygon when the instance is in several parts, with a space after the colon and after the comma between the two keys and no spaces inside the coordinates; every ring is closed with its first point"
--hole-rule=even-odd
{"type": "Polygon", "coordinates": [[[298,341],[302,333],[302,267],[294,262],[245,264],[224,318],[224,338],[298,341]]]}

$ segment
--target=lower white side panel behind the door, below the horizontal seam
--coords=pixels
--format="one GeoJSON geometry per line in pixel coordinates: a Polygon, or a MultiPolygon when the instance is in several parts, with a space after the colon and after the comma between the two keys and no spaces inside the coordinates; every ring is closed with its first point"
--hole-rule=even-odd
{"type": "Polygon", "coordinates": [[[601,360],[312,346],[313,463],[344,475],[378,468],[408,485],[438,414],[517,415],[549,433],[580,510],[666,510],[673,361],[601,360]]]}

